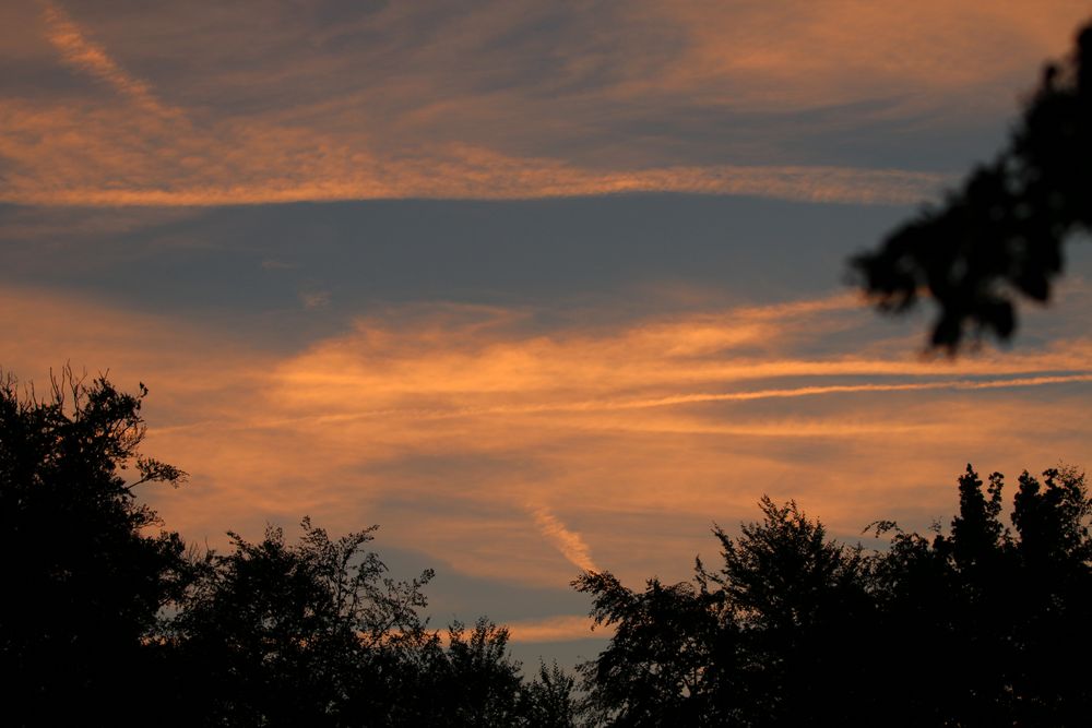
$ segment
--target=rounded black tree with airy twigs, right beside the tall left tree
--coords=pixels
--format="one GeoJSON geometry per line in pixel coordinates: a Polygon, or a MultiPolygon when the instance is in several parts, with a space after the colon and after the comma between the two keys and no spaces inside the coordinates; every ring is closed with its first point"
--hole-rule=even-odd
{"type": "Polygon", "coordinates": [[[307,518],[301,526],[297,545],[274,527],[257,544],[232,534],[232,552],[200,564],[170,625],[178,658],[200,676],[180,695],[193,723],[337,725],[361,691],[384,688],[380,665],[395,660],[380,653],[419,639],[431,572],[388,577],[364,551],[375,528],[331,540],[307,518]]]}

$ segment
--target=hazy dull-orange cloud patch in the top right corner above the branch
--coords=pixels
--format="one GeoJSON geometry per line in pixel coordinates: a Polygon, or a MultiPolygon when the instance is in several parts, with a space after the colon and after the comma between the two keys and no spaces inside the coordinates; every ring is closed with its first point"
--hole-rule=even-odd
{"type": "MultiPolygon", "coordinates": [[[[1009,112],[1010,79],[1031,86],[1043,59],[1072,40],[1089,7],[818,0],[723,4],[685,0],[658,12],[686,28],[687,53],[657,83],[707,89],[724,104],[807,109],[903,96],[917,109],[1009,112]],[[968,102],[969,88],[989,88],[968,102]],[[1001,93],[997,93],[1000,91],[1001,93]]],[[[891,115],[891,111],[885,114],[891,115]]]]}

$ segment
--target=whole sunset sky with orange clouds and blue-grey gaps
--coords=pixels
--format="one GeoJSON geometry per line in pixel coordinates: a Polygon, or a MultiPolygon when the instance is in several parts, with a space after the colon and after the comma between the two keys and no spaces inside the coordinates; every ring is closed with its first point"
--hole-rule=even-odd
{"type": "MultiPolygon", "coordinates": [[[[144,497],[425,568],[434,624],[593,657],[606,570],[757,501],[848,542],[973,463],[1092,463],[1092,255],[1016,342],[923,354],[846,260],[1004,144],[1085,2],[0,7],[0,368],[147,385],[144,497]]],[[[606,633],[608,634],[608,633],[606,633]]]]}

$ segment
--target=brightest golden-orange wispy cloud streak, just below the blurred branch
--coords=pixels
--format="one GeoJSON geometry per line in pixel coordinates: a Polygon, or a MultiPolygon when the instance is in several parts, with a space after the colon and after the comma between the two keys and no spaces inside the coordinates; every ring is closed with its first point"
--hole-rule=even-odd
{"type": "Polygon", "coordinates": [[[867,315],[844,296],[640,321],[609,332],[577,329],[535,336],[510,331],[508,312],[484,315],[359,320],[355,332],[317,345],[277,377],[292,391],[329,393],[314,402],[327,417],[387,416],[405,406],[407,416],[442,418],[1046,385],[1084,381],[1092,349],[1073,341],[1048,354],[952,362],[905,351],[799,357],[794,336],[820,336],[844,326],[842,318],[867,315]],[[845,378],[873,381],[817,381],[845,378]],[[753,386],[773,381],[793,384],[753,386]],[[711,384],[731,384],[735,391],[711,392],[711,384]],[[354,394],[345,397],[342,390],[354,394]],[[442,398],[422,406],[422,397],[430,395],[442,398]],[[340,413],[339,402],[352,402],[352,411],[340,413]]]}

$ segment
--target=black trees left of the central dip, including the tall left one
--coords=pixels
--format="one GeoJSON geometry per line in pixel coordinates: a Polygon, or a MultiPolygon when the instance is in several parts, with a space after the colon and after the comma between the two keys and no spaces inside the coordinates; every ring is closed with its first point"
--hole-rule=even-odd
{"type": "Polygon", "coordinates": [[[392,578],[375,527],[188,550],[138,497],[186,477],[140,454],[146,393],[0,382],[4,725],[572,725],[572,678],[523,680],[486,619],[430,628],[431,572],[392,578]]]}

